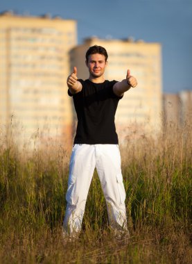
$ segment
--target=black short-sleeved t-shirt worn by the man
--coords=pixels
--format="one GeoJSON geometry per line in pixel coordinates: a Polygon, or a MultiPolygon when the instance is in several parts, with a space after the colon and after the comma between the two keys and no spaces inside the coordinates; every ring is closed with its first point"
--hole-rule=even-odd
{"type": "Polygon", "coordinates": [[[116,81],[78,81],[82,84],[80,92],[71,94],[68,90],[78,117],[74,144],[118,144],[114,115],[122,97],[113,92],[116,81]]]}

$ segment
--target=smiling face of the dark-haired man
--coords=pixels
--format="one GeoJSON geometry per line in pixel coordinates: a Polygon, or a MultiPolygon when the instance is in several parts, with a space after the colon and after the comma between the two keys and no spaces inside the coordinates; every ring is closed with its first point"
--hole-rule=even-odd
{"type": "Polygon", "coordinates": [[[89,55],[89,60],[88,62],[86,61],[86,65],[89,69],[89,74],[94,78],[98,78],[103,76],[107,62],[105,62],[104,55],[96,53],[89,55]]]}

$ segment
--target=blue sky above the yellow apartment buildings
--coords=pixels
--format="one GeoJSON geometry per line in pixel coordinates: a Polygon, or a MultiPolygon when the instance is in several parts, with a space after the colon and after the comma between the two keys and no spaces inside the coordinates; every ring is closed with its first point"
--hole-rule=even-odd
{"type": "Polygon", "coordinates": [[[164,92],[192,90],[192,0],[6,0],[4,10],[76,19],[79,44],[91,35],[161,42],[164,92]]]}

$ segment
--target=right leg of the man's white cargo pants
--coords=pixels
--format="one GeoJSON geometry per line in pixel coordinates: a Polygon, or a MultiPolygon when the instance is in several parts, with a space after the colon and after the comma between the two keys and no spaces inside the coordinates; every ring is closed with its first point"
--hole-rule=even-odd
{"type": "Polygon", "coordinates": [[[110,226],[112,229],[127,230],[125,188],[118,145],[96,145],[96,170],[105,195],[110,226]]]}

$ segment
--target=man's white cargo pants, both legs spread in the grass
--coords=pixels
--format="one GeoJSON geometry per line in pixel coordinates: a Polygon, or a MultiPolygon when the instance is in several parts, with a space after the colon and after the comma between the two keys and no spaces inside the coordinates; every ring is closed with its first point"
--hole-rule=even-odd
{"type": "Polygon", "coordinates": [[[76,144],[69,165],[67,208],[63,222],[64,231],[69,234],[81,229],[95,167],[105,195],[110,226],[112,229],[127,230],[119,146],[76,144]]]}

